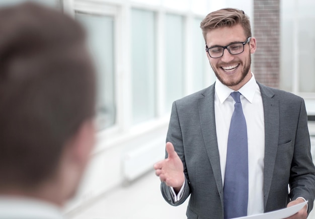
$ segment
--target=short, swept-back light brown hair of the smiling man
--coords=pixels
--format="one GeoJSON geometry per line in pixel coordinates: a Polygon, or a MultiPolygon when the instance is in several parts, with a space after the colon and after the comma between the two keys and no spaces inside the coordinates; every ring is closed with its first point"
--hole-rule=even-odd
{"type": "Polygon", "coordinates": [[[200,28],[206,40],[206,34],[209,30],[219,27],[232,27],[237,24],[242,25],[246,37],[252,36],[250,19],[244,11],[239,9],[226,8],[211,12],[200,23],[200,28]]]}

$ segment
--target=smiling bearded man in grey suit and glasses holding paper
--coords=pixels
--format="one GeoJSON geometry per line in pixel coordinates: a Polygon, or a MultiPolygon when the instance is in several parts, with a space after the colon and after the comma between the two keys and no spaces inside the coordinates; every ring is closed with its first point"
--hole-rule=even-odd
{"type": "MultiPolygon", "coordinates": [[[[313,207],[315,168],[303,99],[255,80],[251,54],[256,50],[256,39],[243,11],[212,12],[201,22],[201,29],[217,80],[173,103],[166,159],[154,165],[165,200],[180,205],[190,195],[186,212],[189,219],[233,217],[224,213],[229,210],[229,198],[223,193],[228,189],[224,178],[235,103],[230,93],[236,91],[241,94],[248,136],[245,215],[307,200],[290,217],[306,218],[313,207]]],[[[238,208],[243,203],[232,204],[238,208]]]]}

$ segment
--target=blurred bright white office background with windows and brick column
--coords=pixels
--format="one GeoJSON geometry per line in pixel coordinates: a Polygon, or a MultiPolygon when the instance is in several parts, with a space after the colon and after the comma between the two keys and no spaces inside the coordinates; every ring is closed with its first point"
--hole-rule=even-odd
{"type": "Polygon", "coordinates": [[[199,25],[220,8],[250,16],[256,79],[304,98],[315,155],[313,0],[35,2],[85,26],[98,70],[98,140],[80,191],[65,207],[70,218],[185,218],[185,204],[166,206],[152,166],[164,158],[172,102],[215,81],[199,25]]]}

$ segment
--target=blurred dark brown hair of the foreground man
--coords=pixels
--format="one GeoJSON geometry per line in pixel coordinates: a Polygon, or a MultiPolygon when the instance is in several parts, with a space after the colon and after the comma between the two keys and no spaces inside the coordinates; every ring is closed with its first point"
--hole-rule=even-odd
{"type": "Polygon", "coordinates": [[[95,114],[84,29],[34,3],[0,9],[0,186],[36,186],[95,114]]]}

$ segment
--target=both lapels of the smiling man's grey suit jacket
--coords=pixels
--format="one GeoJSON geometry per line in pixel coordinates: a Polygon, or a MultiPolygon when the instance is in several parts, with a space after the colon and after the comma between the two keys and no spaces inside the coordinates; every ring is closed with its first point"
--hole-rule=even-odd
{"type": "MultiPolygon", "coordinates": [[[[258,83],[262,95],[265,120],[265,166],[264,166],[264,208],[269,196],[274,164],[278,147],[279,101],[273,99],[274,93],[268,87],[258,83]]],[[[198,102],[200,124],[206,152],[211,164],[214,179],[223,205],[223,186],[220,170],[220,158],[216,138],[214,114],[214,85],[210,86],[198,102]]]]}

